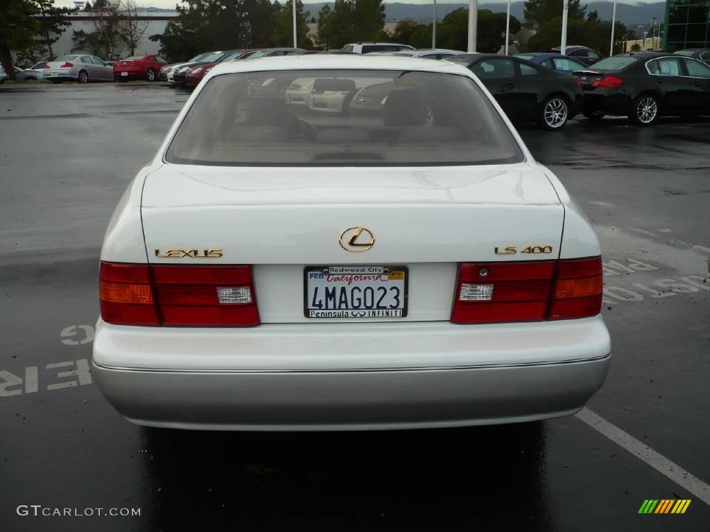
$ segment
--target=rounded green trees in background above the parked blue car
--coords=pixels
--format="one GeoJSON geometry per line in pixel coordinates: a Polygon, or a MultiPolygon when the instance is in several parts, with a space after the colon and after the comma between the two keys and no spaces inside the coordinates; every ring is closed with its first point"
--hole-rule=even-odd
{"type": "MultiPolygon", "coordinates": [[[[614,53],[621,53],[623,40],[627,38],[627,29],[621,22],[614,26],[614,53]]],[[[611,39],[611,21],[600,21],[598,18],[591,18],[586,21],[567,21],[567,35],[574,35],[574,42],[570,44],[589,46],[594,50],[599,50],[606,55],[611,39]]],[[[532,51],[544,52],[555,46],[559,46],[562,40],[562,17],[552,18],[552,20],[540,26],[537,33],[528,41],[528,48],[532,51]]]]}

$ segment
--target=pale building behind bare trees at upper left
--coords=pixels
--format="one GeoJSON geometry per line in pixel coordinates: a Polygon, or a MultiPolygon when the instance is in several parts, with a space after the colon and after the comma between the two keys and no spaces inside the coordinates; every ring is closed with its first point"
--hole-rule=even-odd
{"type": "MultiPolygon", "coordinates": [[[[83,5],[83,2],[75,2],[75,4],[83,5]]],[[[77,5],[79,7],[79,5],[77,5]]],[[[66,17],[66,20],[71,24],[66,27],[64,33],[60,35],[59,40],[52,45],[52,48],[57,57],[62,55],[67,55],[70,52],[89,52],[93,53],[92,50],[75,50],[72,43],[72,35],[75,31],[83,30],[87,33],[91,33],[96,30],[94,26],[94,20],[96,18],[96,13],[91,11],[77,11],[76,13],[71,13],[66,17]]],[[[165,26],[168,26],[168,22],[172,21],[178,16],[177,11],[138,11],[138,21],[146,25],[145,31],[143,31],[143,36],[141,37],[140,43],[138,43],[138,48],[136,48],[136,55],[147,55],[158,53],[158,48],[160,48],[160,43],[150,39],[151,35],[162,34],[165,31],[165,26]]],[[[122,50],[119,53],[121,57],[125,57],[128,50],[122,50]]],[[[116,57],[102,57],[104,60],[116,59],[116,57]]]]}

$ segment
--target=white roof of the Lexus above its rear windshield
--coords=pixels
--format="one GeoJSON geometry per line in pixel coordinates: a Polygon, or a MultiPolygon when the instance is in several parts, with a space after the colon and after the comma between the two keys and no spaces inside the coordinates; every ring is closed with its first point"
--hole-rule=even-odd
{"type": "MultiPolygon", "coordinates": [[[[219,63],[209,74],[268,72],[270,70],[402,70],[403,67],[408,70],[420,70],[424,72],[470,74],[468,69],[452,62],[432,61],[430,59],[419,59],[418,57],[396,57],[393,55],[371,57],[369,54],[305,54],[257,57],[251,61],[219,63]]],[[[307,75],[307,72],[304,72],[304,75],[307,75]]]]}

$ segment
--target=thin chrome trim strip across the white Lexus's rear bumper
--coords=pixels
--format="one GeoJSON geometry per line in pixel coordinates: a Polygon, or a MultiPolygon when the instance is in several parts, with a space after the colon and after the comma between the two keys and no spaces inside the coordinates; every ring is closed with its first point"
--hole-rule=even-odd
{"type": "Polygon", "coordinates": [[[446,371],[446,370],[500,370],[513,367],[530,366],[555,366],[565,364],[579,364],[581,362],[598,362],[611,358],[611,353],[594,358],[575,358],[573,360],[562,360],[560,362],[525,362],[523,364],[481,364],[473,366],[426,366],[426,367],[376,367],[376,368],[353,368],[350,370],[168,370],[155,369],[154,367],[121,367],[97,364],[92,358],[92,365],[102,370],[133,371],[148,373],[200,373],[200,374],[265,374],[265,373],[379,373],[379,372],[407,372],[407,371],[446,371]]]}

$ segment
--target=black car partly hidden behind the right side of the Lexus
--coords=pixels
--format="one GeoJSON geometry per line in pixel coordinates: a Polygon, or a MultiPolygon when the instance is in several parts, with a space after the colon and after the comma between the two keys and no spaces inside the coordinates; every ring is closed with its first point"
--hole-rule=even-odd
{"type": "Polygon", "coordinates": [[[579,79],[518,57],[461,54],[447,61],[474,72],[513,122],[536,122],[556,131],[584,105],[579,79]]]}

